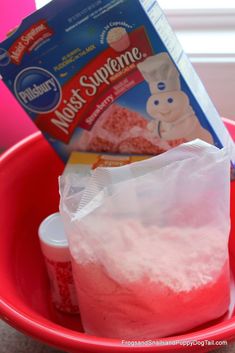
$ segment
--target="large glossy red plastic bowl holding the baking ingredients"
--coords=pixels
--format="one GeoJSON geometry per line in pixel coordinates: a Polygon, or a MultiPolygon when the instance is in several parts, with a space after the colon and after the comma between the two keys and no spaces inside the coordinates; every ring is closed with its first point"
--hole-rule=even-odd
{"type": "MultiPolygon", "coordinates": [[[[227,120],[226,124],[235,138],[235,123],[227,120]]],[[[67,352],[188,352],[189,347],[180,342],[192,340],[198,341],[194,351],[206,352],[213,347],[204,340],[235,339],[235,292],[226,316],[190,333],[166,338],[172,345],[127,347],[120,340],[86,335],[78,317],[56,313],[50,304],[37,229],[43,218],[58,209],[57,177],[62,170],[62,162],[40,133],[0,159],[0,314],[6,322],[67,352]],[[75,323],[78,331],[71,329],[75,323]]],[[[235,273],[235,182],[231,186],[230,257],[235,273]]]]}

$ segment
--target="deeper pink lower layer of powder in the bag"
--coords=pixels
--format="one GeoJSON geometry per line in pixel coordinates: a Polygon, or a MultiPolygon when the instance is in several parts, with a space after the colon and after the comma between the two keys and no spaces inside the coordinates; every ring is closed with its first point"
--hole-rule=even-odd
{"type": "Polygon", "coordinates": [[[124,287],[102,266],[74,266],[84,329],[91,335],[154,339],[180,333],[223,315],[229,305],[227,264],[215,281],[175,292],[148,278],[124,287]]]}

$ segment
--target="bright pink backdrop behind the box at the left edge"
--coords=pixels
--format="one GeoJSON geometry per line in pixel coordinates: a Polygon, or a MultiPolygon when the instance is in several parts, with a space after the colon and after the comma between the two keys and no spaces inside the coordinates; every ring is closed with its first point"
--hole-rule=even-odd
{"type": "MultiPolygon", "coordinates": [[[[0,41],[34,10],[34,0],[1,0],[0,41]]],[[[34,124],[0,81],[0,149],[13,145],[34,131],[34,124]]]]}

